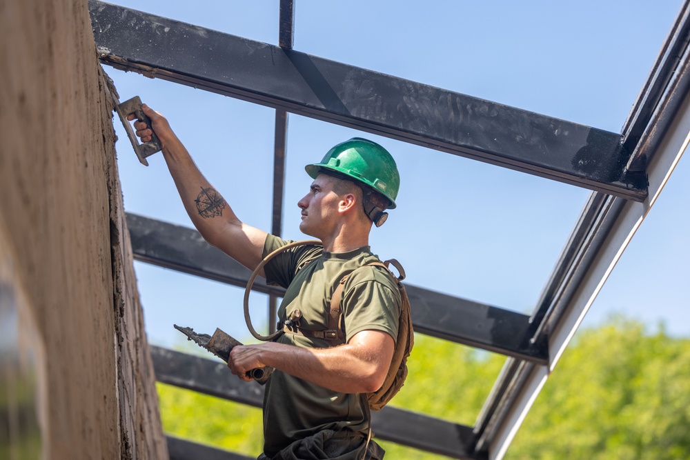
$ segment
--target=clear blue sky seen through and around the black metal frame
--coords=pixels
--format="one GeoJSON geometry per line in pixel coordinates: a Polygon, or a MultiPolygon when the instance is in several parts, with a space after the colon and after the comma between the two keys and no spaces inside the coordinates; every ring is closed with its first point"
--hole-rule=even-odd
{"type": "MultiPolygon", "coordinates": [[[[115,3],[277,43],[277,0],[115,3]]],[[[620,132],[681,2],[295,4],[296,50],[620,132]]],[[[105,69],[121,100],[139,94],[168,117],[242,220],[270,230],[273,109],[105,69]]],[[[126,210],[191,226],[161,154],[141,166],[116,128],[126,210]]],[[[304,164],[353,136],[382,143],[402,176],[398,207],[373,230],[375,253],[402,261],[411,284],[533,310],[589,190],[290,114],[284,237],[303,237],[296,203],[311,182],[304,164]]],[[[689,161],[680,161],[584,326],[622,312],[690,335],[689,161]]],[[[181,343],[172,323],[248,336],[242,289],[142,263],[136,270],[153,343],[181,343]]],[[[266,297],[253,295],[252,306],[255,323],[265,321],[266,297]]]]}

